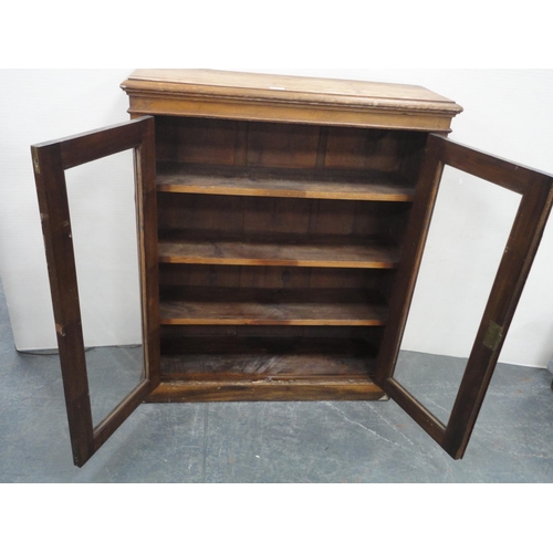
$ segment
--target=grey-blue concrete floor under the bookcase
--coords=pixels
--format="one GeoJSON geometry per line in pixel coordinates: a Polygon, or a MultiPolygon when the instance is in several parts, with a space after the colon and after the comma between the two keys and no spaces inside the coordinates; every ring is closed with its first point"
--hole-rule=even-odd
{"type": "MultiPolygon", "coordinates": [[[[462,363],[403,363],[445,416],[462,363]]],[[[553,482],[551,380],[499,365],[460,461],[393,401],[228,403],[142,405],[77,469],[58,357],[14,349],[0,286],[0,482],[553,482]]]]}

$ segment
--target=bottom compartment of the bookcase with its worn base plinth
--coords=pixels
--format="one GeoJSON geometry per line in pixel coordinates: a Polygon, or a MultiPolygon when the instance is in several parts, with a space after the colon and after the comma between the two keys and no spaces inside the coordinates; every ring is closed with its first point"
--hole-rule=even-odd
{"type": "Polygon", "coordinates": [[[376,400],[371,343],[341,337],[165,336],[148,401],[376,400]]]}

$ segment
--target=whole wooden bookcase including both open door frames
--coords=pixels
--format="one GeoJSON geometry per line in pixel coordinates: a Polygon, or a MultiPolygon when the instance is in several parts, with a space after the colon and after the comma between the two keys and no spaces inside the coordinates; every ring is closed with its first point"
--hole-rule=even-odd
{"type": "Polygon", "coordinates": [[[552,178],[451,143],[460,106],[418,86],[140,70],[122,87],[129,123],[32,148],[75,463],[142,401],[388,396],[461,457],[552,178]],[[93,428],[63,171],[128,148],[145,378],[93,428]],[[523,198],[447,425],[394,379],[445,165],[523,198]]]}

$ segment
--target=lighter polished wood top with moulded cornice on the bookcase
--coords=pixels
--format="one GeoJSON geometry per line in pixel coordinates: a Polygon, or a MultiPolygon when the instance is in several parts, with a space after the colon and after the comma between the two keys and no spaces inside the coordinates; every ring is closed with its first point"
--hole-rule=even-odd
{"type": "Polygon", "coordinates": [[[462,112],[422,86],[217,70],[136,70],[129,113],[449,132],[462,112]]]}

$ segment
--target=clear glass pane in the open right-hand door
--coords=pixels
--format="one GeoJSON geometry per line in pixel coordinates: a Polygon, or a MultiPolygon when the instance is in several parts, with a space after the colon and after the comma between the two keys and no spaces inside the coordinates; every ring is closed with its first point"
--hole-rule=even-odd
{"type": "Polygon", "coordinates": [[[446,166],[394,378],[447,424],[521,196],[446,166]]]}

